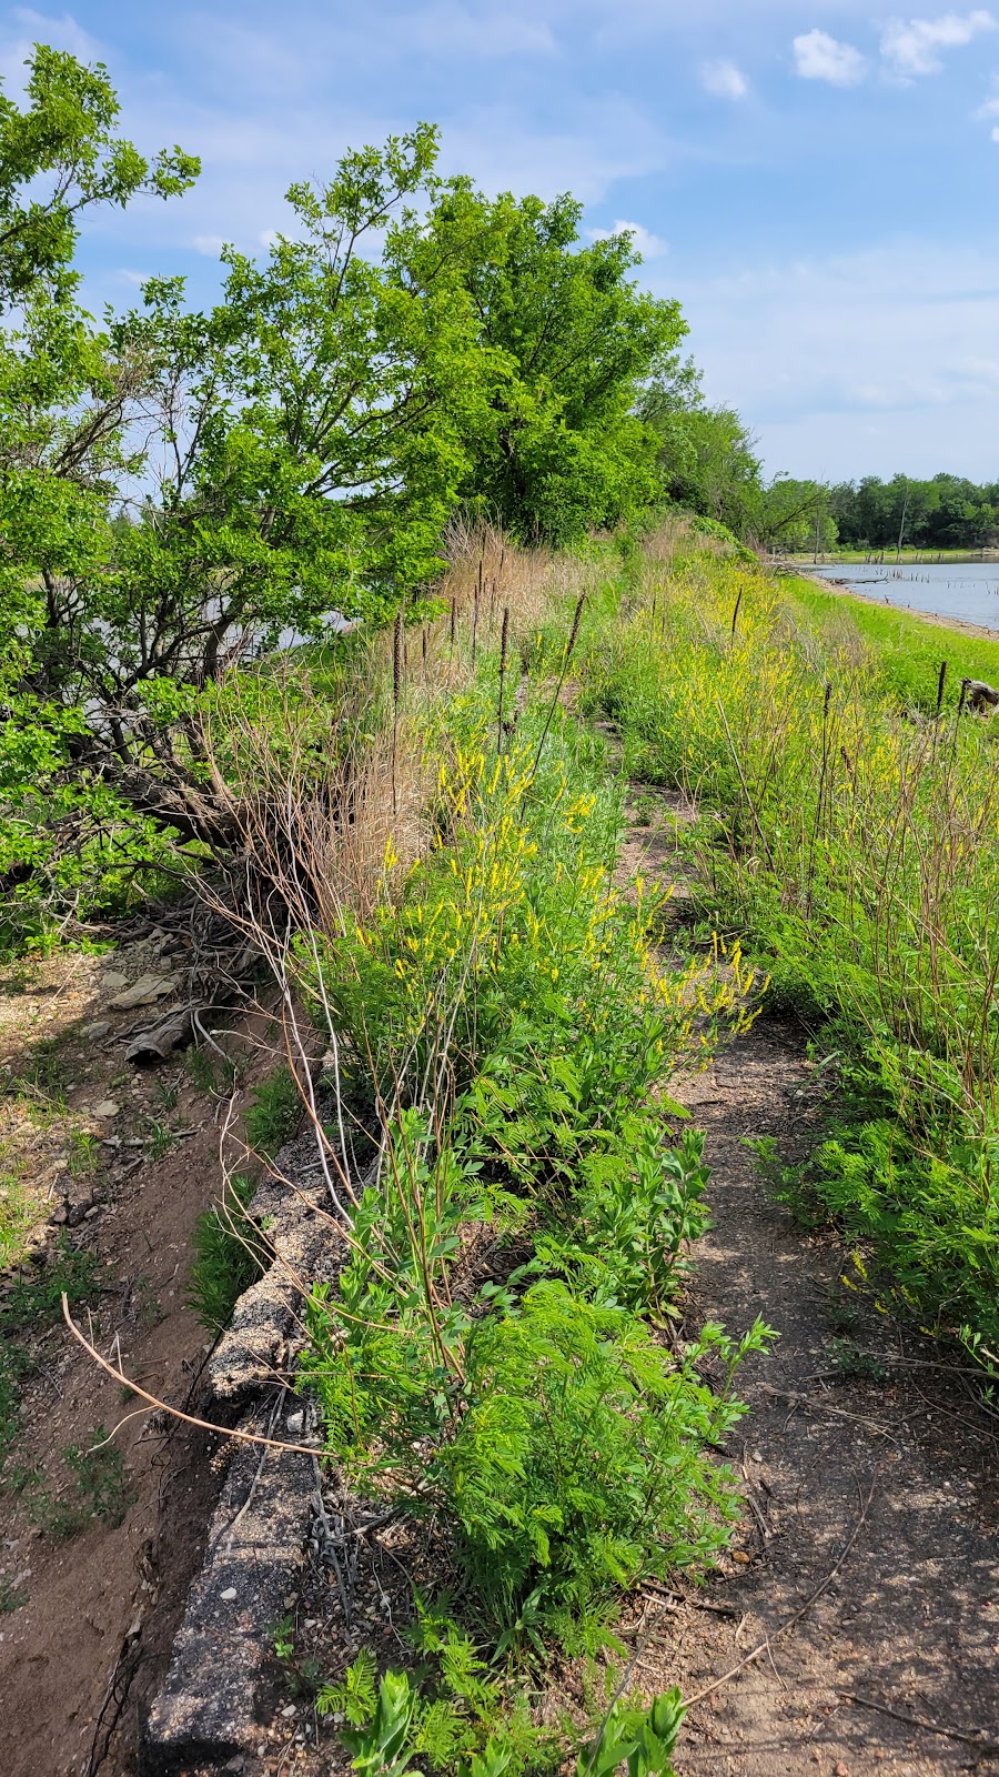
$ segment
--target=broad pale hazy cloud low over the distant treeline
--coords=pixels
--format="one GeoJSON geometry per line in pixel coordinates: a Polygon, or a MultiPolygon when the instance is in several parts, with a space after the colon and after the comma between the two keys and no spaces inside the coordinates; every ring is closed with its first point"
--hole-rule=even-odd
{"type": "Polygon", "coordinates": [[[675,258],[647,281],[679,297],[709,398],[770,473],[992,473],[999,252],[898,238],[711,279],[675,258]]]}

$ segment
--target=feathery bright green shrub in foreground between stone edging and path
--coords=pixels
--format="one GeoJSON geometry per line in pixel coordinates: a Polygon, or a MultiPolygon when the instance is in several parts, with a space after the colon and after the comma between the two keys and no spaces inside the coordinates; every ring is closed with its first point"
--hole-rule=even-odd
{"type": "Polygon", "coordinates": [[[622,1308],[535,1283],[466,1342],[466,1411],[430,1466],[496,1624],[583,1619],[615,1589],[704,1564],[727,1541],[732,1477],[704,1457],[741,1414],[699,1381],[763,1340],[706,1327],[683,1363],[622,1308]]]}

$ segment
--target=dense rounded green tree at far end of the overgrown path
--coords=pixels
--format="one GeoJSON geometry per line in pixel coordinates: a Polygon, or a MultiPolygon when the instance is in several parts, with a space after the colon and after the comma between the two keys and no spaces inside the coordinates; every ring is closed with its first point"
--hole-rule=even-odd
{"type": "Polygon", "coordinates": [[[661,498],[638,387],[675,352],[679,304],[640,291],[627,233],[579,247],[581,204],[436,194],[412,272],[460,268],[492,375],[464,496],[524,540],[569,542],[661,498]]]}

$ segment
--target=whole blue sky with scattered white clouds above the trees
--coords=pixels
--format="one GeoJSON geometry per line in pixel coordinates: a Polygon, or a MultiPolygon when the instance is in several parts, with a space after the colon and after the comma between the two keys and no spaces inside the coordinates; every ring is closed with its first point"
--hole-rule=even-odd
{"type": "Polygon", "coordinates": [[[80,0],[0,7],[9,89],[32,41],[100,57],[123,130],[204,163],[89,222],[91,304],[167,270],[210,300],[292,179],[430,119],[444,171],[636,229],[770,471],[999,478],[999,4],[80,0]]]}

